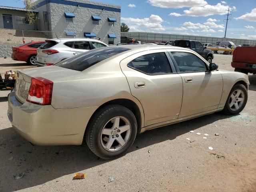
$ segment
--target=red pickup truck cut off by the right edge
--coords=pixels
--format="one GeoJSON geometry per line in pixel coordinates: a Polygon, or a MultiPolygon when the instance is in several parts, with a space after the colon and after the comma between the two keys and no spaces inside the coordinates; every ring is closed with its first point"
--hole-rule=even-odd
{"type": "Polygon", "coordinates": [[[231,66],[237,72],[256,74],[256,46],[236,47],[231,66]]]}

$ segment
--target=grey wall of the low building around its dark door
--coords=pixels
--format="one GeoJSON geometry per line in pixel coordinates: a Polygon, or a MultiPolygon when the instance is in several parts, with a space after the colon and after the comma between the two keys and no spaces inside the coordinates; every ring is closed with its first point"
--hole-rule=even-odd
{"type": "Polygon", "coordinates": [[[0,28],[4,28],[4,21],[3,21],[3,14],[10,14],[12,15],[12,26],[13,29],[20,29],[20,30],[37,30],[37,22],[35,24],[18,24],[16,23],[15,16],[22,16],[26,17],[26,12],[24,11],[14,11],[14,10],[2,10],[0,9],[0,28]]]}

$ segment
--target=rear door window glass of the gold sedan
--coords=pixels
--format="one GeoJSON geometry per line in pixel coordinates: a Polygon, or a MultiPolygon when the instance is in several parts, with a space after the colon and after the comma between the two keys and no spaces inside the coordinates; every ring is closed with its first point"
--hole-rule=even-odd
{"type": "Polygon", "coordinates": [[[127,64],[146,74],[171,73],[170,63],[164,52],[140,56],[127,64]]]}

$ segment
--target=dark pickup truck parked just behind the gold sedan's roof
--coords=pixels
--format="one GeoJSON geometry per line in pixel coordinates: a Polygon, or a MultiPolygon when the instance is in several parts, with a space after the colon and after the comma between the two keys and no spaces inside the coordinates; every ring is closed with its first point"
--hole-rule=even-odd
{"type": "Polygon", "coordinates": [[[205,58],[208,63],[211,63],[214,56],[213,52],[209,49],[204,48],[202,43],[199,41],[194,41],[194,40],[176,40],[174,41],[173,46],[177,47],[184,47],[184,48],[190,48],[200,54],[203,58],[205,58]]]}

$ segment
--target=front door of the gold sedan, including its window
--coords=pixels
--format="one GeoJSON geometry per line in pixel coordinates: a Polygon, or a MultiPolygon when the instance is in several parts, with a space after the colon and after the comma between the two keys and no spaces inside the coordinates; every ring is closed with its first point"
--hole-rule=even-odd
{"type": "Polygon", "coordinates": [[[182,108],[178,118],[214,110],[222,96],[222,75],[209,71],[207,64],[192,52],[172,52],[183,81],[182,108]]]}

